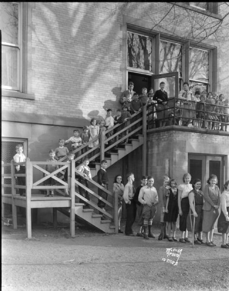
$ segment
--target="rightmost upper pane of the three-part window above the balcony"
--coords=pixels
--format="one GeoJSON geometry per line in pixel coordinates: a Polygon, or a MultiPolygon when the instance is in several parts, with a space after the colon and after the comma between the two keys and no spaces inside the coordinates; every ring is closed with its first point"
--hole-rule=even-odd
{"type": "Polygon", "coordinates": [[[202,49],[189,49],[189,79],[209,81],[209,52],[202,49]]]}

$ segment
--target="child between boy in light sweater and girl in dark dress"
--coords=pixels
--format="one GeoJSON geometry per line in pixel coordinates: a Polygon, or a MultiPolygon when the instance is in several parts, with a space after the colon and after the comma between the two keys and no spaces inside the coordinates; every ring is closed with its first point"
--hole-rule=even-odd
{"type": "Polygon", "coordinates": [[[164,176],[163,177],[163,186],[159,188],[159,203],[161,206],[161,233],[158,236],[158,241],[161,241],[163,238],[168,239],[167,235],[167,222],[164,221],[164,215],[166,210],[166,202],[167,202],[167,196],[169,194],[169,177],[164,176]]]}

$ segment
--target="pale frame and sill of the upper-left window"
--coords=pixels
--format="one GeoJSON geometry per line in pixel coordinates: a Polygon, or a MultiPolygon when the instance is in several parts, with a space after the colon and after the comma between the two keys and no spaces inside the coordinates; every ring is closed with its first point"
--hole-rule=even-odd
{"type": "MultiPolygon", "coordinates": [[[[16,97],[24,99],[34,99],[34,94],[31,93],[31,52],[28,47],[31,47],[31,11],[34,3],[19,2],[18,7],[18,85],[17,88],[7,88],[2,84],[2,97],[16,97]]],[[[8,44],[1,39],[1,45],[14,47],[14,44],[8,44]]]]}

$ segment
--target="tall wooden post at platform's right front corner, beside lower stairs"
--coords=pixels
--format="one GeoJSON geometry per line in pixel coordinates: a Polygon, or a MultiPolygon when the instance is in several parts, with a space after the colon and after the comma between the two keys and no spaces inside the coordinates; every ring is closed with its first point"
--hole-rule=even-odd
{"type": "Polygon", "coordinates": [[[70,236],[75,236],[75,167],[76,162],[73,160],[69,163],[68,173],[71,173],[70,176],[70,197],[71,197],[71,206],[70,206],[70,236]]]}

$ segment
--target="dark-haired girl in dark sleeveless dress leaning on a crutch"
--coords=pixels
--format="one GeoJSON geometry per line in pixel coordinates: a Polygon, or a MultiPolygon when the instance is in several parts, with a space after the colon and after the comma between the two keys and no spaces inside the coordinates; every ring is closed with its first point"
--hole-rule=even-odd
{"type": "Polygon", "coordinates": [[[201,188],[201,180],[195,179],[192,184],[193,190],[189,192],[188,199],[190,212],[187,217],[187,230],[194,231],[194,243],[201,244],[202,240],[202,222],[203,222],[203,192],[201,188]],[[194,226],[195,217],[195,226],[194,226]],[[198,237],[197,237],[198,233],[198,237]]]}

